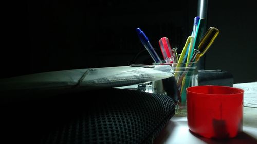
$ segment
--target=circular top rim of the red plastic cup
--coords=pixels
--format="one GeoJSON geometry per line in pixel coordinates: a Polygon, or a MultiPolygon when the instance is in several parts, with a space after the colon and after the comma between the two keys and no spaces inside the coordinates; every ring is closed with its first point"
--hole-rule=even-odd
{"type": "Polygon", "coordinates": [[[218,86],[218,85],[192,86],[192,87],[186,88],[186,91],[187,91],[187,92],[190,92],[190,93],[196,93],[196,94],[201,95],[201,96],[213,96],[213,95],[234,96],[234,95],[238,95],[238,94],[244,93],[244,90],[243,90],[243,89],[240,89],[240,88],[229,87],[229,86],[218,86]],[[194,91],[192,91],[191,89],[194,89],[195,87],[219,87],[219,88],[228,88],[228,89],[231,89],[231,90],[232,90],[232,89],[233,89],[233,90],[237,90],[237,93],[231,93],[231,94],[207,94],[207,93],[200,93],[200,92],[194,92],[194,91]]]}

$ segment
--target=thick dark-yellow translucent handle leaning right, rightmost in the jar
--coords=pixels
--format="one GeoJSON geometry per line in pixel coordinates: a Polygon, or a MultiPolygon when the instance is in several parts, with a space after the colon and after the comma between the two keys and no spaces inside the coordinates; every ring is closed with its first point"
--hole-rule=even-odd
{"type": "Polygon", "coordinates": [[[198,50],[201,52],[197,54],[195,61],[198,61],[201,56],[203,56],[206,51],[209,49],[209,47],[212,45],[214,40],[219,34],[219,30],[214,27],[210,27],[208,31],[205,33],[203,39],[201,39],[201,42],[198,46],[198,50]]]}

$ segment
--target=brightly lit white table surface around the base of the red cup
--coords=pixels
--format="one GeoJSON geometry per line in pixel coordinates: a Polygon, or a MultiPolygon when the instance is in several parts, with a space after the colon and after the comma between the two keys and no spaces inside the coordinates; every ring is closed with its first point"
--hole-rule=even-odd
{"type": "Polygon", "coordinates": [[[244,107],[243,132],[235,138],[215,140],[195,135],[189,131],[187,117],[173,116],[154,143],[257,143],[257,108],[244,107]]]}

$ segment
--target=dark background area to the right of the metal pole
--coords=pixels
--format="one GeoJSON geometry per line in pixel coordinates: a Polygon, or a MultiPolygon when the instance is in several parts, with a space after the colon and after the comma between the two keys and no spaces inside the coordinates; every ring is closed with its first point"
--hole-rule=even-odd
{"type": "Polygon", "coordinates": [[[257,81],[257,9],[254,1],[209,1],[209,25],[221,32],[206,53],[206,69],[222,69],[234,83],[257,81]]]}

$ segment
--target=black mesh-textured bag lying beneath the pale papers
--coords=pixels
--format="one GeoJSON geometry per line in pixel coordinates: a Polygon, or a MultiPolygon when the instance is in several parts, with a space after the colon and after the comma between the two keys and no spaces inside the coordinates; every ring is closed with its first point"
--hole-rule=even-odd
{"type": "Polygon", "coordinates": [[[11,105],[21,143],[153,143],[175,113],[169,96],[115,88],[11,105]]]}

